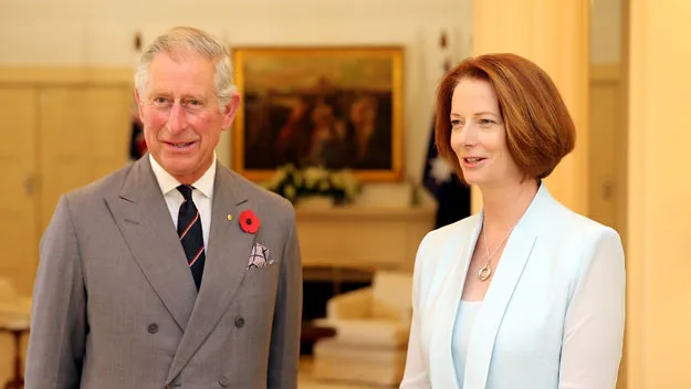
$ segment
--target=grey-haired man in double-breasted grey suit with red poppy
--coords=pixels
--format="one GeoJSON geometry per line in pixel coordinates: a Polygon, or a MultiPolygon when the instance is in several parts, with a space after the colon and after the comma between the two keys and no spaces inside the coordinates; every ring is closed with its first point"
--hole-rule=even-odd
{"type": "Polygon", "coordinates": [[[63,196],[41,241],[27,388],[296,388],[290,202],[217,164],[240,105],[223,44],[176,28],[135,96],[149,153],[63,196]]]}

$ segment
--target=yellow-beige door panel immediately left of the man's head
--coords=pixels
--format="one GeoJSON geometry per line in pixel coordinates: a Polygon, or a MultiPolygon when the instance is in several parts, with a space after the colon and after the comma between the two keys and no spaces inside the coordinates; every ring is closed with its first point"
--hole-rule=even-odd
{"type": "Polygon", "coordinates": [[[41,228],[60,196],[127,162],[129,105],[126,86],[54,86],[41,96],[41,228]]]}

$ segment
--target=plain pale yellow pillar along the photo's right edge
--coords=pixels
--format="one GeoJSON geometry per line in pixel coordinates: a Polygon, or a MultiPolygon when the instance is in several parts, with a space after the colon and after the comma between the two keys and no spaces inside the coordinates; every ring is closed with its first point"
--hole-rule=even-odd
{"type": "Polygon", "coordinates": [[[629,10],[628,389],[691,388],[691,2],[629,10]]]}

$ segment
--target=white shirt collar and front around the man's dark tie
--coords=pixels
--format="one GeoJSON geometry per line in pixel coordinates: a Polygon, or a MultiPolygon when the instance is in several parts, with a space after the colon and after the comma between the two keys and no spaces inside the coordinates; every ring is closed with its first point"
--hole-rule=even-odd
{"type": "MultiPolygon", "coordinates": [[[[181,183],[175,179],[169,172],[167,172],[154,157],[149,154],[149,160],[151,161],[151,169],[156,176],[156,180],[160,186],[160,191],[164,193],[170,218],[177,230],[178,228],[178,212],[180,204],[185,198],[182,193],[177,189],[181,183]]],[[[209,246],[209,230],[211,229],[211,200],[213,199],[213,180],[216,179],[216,154],[213,154],[213,162],[211,167],[201,176],[192,187],[192,200],[195,207],[199,211],[201,218],[201,233],[203,235],[203,246],[209,246]]]]}

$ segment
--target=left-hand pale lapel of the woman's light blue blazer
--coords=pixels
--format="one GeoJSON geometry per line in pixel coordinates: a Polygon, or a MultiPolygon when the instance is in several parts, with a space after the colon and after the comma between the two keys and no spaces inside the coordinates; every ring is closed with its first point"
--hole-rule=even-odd
{"type": "MultiPolygon", "coordinates": [[[[472,228],[462,230],[459,240],[468,238],[467,244],[452,243],[442,253],[447,264],[439,267],[439,274],[443,278],[437,294],[433,314],[433,329],[430,341],[430,380],[432,388],[458,388],[456,366],[453,365],[452,339],[458,308],[463,295],[463,286],[468,274],[468,267],[472,257],[473,249],[478,242],[482,213],[473,215],[472,228]],[[437,358],[437,356],[439,356],[437,358]]],[[[433,297],[432,297],[433,298],[433,297]]],[[[435,299],[435,298],[433,298],[435,299]]]]}

